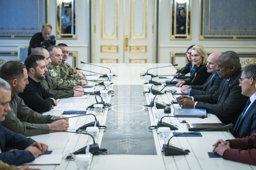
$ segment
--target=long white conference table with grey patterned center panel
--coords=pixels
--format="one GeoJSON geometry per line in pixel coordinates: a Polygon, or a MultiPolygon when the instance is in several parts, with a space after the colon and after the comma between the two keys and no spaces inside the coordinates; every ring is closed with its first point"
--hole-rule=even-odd
{"type": "MultiPolygon", "coordinates": [[[[218,139],[234,139],[229,131],[225,132],[201,132],[202,137],[173,137],[170,145],[178,148],[188,149],[187,155],[165,156],[162,152],[163,140],[156,129],[148,129],[149,126],[156,126],[157,119],[152,112],[153,108],[146,107],[150,104],[149,93],[144,80],[144,76],[140,76],[143,69],[169,66],[169,63],[97,63],[98,66],[108,67],[111,71],[118,75],[113,77],[111,89],[114,93],[109,94],[104,100],[112,106],[102,111],[100,115],[96,115],[95,111],[87,110],[87,113],[96,115],[100,125],[105,125],[106,129],[100,129],[95,142],[100,148],[108,151],[99,155],[91,155],[89,169],[255,169],[256,166],[238,163],[234,161],[224,160],[223,158],[209,158],[208,152],[212,152],[212,144],[218,139]]],[[[89,70],[98,73],[109,73],[109,70],[102,67],[91,66],[85,64],[83,70],[89,70]]],[[[85,74],[90,72],[83,71],[85,74]]],[[[154,75],[172,75],[176,73],[173,66],[151,69],[149,73],[154,75]]],[[[98,80],[107,80],[99,78],[98,80]]],[[[169,79],[159,79],[154,77],[152,80],[165,82],[169,79]]],[[[104,86],[97,86],[99,90],[104,86]]],[[[162,89],[164,86],[154,86],[155,89],[162,89]]],[[[164,90],[172,89],[180,93],[180,87],[167,86],[164,90]]],[[[177,95],[176,97],[178,97],[177,95]]],[[[100,100],[99,96],[97,99],[100,100]]],[[[167,104],[174,100],[171,93],[159,95],[158,103],[165,102],[167,104]]],[[[58,103],[86,103],[90,106],[96,103],[94,95],[87,95],[86,99],[57,99],[58,103]]],[[[173,115],[174,108],[171,107],[170,114],[173,115]]],[[[85,108],[86,109],[86,108],[85,108]]],[[[44,115],[59,116],[63,111],[49,111],[44,115]]],[[[66,115],[71,117],[73,115],[66,115]]],[[[188,123],[221,123],[217,116],[207,113],[207,118],[190,118],[190,117],[164,117],[163,121],[172,124],[178,130],[173,132],[188,132],[186,123],[180,123],[185,120],[188,123]]],[[[73,117],[69,119],[71,132],[75,132],[80,126],[93,122],[94,116],[85,115],[73,117]]],[[[65,158],[84,146],[92,144],[89,135],[54,132],[43,135],[31,136],[37,142],[45,143],[52,150],[52,154],[62,154],[60,165],[31,165],[31,168],[40,169],[77,169],[75,161],[66,161],[65,158]]]]}

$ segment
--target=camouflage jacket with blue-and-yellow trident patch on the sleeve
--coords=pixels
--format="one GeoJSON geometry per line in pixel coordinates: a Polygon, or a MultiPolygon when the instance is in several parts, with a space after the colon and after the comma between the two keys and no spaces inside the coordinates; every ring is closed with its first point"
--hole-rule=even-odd
{"type": "Polygon", "coordinates": [[[63,70],[60,65],[54,67],[52,63],[50,63],[48,67],[48,71],[46,73],[51,77],[55,83],[61,86],[80,86],[82,82],[79,79],[67,77],[67,71],[63,70]]]}

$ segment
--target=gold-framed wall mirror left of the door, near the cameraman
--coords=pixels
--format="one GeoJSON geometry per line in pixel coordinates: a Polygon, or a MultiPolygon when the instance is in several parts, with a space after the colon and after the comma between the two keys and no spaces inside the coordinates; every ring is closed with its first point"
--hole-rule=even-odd
{"type": "Polygon", "coordinates": [[[56,0],[57,39],[77,39],[77,0],[56,0]]]}

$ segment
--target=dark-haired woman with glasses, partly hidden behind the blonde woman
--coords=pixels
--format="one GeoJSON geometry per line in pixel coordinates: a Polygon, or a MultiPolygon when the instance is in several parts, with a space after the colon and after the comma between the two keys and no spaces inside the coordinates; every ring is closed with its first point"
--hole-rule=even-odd
{"type": "MultiPolygon", "coordinates": [[[[194,71],[196,70],[197,66],[193,63],[192,61],[192,57],[191,57],[191,48],[193,47],[194,45],[190,45],[187,49],[187,52],[186,52],[186,55],[188,57],[188,61],[189,63],[186,65],[187,66],[187,69],[183,70],[182,72],[180,72],[182,69],[180,69],[179,71],[176,72],[175,75],[177,75],[178,73],[180,74],[187,74],[190,72],[190,75],[194,77],[194,71]],[[193,75],[192,75],[193,74],[193,75]]],[[[175,76],[173,76],[175,77],[175,76]]],[[[184,75],[178,75],[176,77],[176,79],[180,79],[180,80],[184,80],[184,79],[188,79],[190,78],[190,76],[184,76],[184,75]]]]}

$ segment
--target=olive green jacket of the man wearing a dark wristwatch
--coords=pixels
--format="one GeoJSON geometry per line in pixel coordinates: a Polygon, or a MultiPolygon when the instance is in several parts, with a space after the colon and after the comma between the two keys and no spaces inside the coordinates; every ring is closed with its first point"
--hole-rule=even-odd
{"type": "Polygon", "coordinates": [[[5,120],[2,122],[2,125],[7,129],[24,136],[47,134],[50,132],[49,130],[26,129],[26,126],[49,129],[49,126],[46,124],[48,115],[42,115],[31,110],[18,95],[11,95],[9,106],[12,110],[7,112],[5,120]]]}

